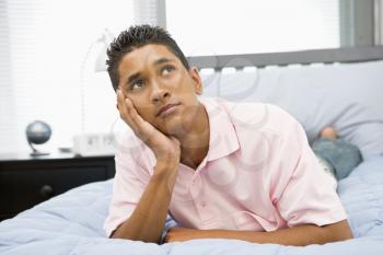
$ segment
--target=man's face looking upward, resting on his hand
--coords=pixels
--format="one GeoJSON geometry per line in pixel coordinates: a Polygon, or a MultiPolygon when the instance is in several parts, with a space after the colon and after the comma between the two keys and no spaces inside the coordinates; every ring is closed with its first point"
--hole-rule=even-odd
{"type": "Polygon", "coordinates": [[[163,45],[149,44],[125,55],[118,66],[118,88],[143,119],[172,135],[197,121],[201,81],[196,69],[186,70],[163,45]],[[163,106],[175,105],[162,113],[163,106]]]}

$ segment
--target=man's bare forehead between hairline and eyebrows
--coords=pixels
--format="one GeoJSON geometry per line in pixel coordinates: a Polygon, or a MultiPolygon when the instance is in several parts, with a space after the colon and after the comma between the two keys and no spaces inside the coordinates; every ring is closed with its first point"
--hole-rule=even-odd
{"type": "Polygon", "coordinates": [[[149,44],[126,54],[118,66],[118,72],[124,74],[127,72],[139,71],[144,67],[152,66],[155,60],[160,58],[169,58],[175,61],[178,60],[166,46],[149,44]]]}

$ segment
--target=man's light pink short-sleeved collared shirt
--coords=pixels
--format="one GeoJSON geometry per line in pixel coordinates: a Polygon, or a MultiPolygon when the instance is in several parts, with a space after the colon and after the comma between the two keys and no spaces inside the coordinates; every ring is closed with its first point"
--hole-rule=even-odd
{"type": "MultiPolygon", "coordinates": [[[[347,219],[336,181],[290,114],[271,104],[199,101],[209,116],[209,150],[196,170],[179,164],[170,205],[179,225],[272,231],[347,219]]],[[[115,161],[107,235],[130,217],[155,165],[152,151],[134,136],[115,161]]]]}

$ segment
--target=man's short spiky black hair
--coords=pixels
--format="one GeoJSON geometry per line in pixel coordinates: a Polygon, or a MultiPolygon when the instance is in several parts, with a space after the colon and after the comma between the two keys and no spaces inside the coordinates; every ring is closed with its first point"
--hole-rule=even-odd
{"type": "Polygon", "coordinates": [[[118,65],[123,57],[134,49],[148,44],[165,46],[181,60],[187,70],[190,69],[185,55],[165,30],[160,26],[134,25],[127,31],[123,31],[118,37],[111,43],[111,46],[106,51],[108,57],[106,60],[107,71],[114,90],[117,90],[118,88],[118,65]]]}

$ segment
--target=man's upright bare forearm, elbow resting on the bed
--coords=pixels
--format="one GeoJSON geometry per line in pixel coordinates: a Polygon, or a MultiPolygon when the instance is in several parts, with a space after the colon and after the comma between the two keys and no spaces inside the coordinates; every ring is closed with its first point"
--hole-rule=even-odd
{"type": "Polygon", "coordinates": [[[140,201],[112,237],[158,243],[166,220],[176,179],[175,164],[159,162],[140,201]]]}

